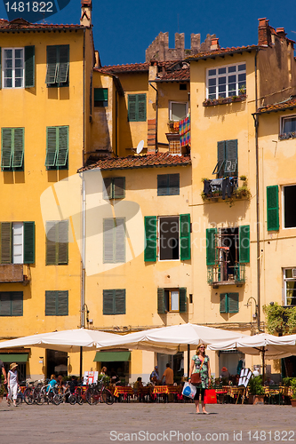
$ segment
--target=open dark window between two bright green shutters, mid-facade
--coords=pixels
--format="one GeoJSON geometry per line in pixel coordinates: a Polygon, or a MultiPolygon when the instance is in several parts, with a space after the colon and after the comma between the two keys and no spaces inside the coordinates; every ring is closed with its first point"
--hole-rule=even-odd
{"type": "Polygon", "coordinates": [[[156,216],[145,216],[145,262],[158,260],[190,260],[191,258],[191,224],[189,214],[158,218],[159,239],[157,239],[156,216]],[[157,245],[158,241],[158,245],[157,245]]]}

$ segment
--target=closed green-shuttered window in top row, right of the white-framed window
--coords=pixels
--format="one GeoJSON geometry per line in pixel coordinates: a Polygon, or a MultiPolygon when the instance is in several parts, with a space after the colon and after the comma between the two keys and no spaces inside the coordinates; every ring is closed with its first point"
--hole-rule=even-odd
{"type": "Polygon", "coordinates": [[[68,86],[69,84],[69,45],[46,47],[47,67],[45,83],[48,87],[68,86]]]}

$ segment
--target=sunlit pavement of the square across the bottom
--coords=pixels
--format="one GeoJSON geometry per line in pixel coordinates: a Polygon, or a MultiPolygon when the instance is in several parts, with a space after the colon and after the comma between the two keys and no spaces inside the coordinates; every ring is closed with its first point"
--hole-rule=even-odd
{"type": "Polygon", "coordinates": [[[276,405],[207,406],[116,403],[113,406],[27,406],[0,403],[0,443],[293,442],[296,408],[276,405]]]}

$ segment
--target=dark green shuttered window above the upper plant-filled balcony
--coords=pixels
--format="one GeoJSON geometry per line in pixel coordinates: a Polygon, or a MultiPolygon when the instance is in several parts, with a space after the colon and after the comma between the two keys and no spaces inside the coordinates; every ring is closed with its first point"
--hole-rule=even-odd
{"type": "Polygon", "coordinates": [[[212,174],[217,178],[237,176],[237,139],[217,142],[217,163],[212,174]]]}

